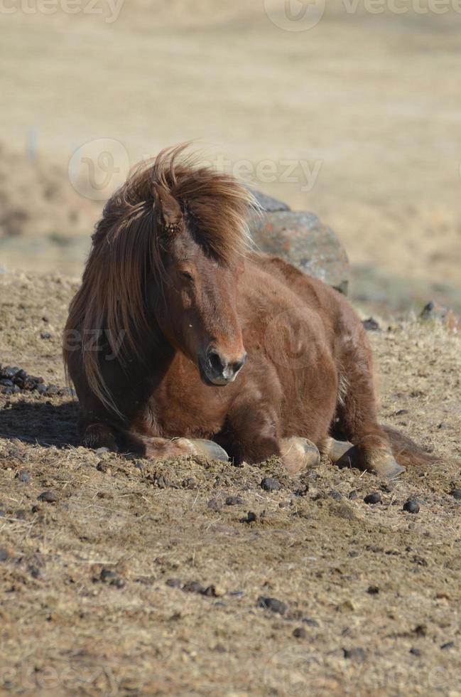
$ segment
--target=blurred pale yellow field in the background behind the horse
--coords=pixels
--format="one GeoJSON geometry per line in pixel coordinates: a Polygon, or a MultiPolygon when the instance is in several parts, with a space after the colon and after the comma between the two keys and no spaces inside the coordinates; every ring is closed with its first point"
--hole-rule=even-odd
{"type": "Polygon", "coordinates": [[[262,1],[111,11],[99,0],[102,14],[18,1],[0,13],[0,267],[80,276],[128,167],[195,139],[217,166],[244,176],[250,163],[256,188],[332,226],[353,299],[461,309],[461,14],[427,4],[372,14],[329,0],[316,26],[288,31],[269,17],[276,1],[268,13],[262,1]],[[90,152],[104,183],[91,145],[103,141],[119,171],[94,201],[72,155],[90,152]],[[264,161],[275,181],[258,176],[264,161]],[[296,181],[284,181],[287,161],[296,181]]]}

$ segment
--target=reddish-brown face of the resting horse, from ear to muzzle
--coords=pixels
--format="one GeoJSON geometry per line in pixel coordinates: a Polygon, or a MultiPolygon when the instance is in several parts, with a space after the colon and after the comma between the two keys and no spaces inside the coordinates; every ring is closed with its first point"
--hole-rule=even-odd
{"type": "Polygon", "coordinates": [[[158,323],[170,344],[197,365],[205,384],[227,385],[246,359],[237,314],[242,260],[223,260],[207,246],[197,218],[161,186],[156,207],[163,249],[158,323]]]}

